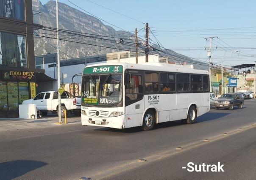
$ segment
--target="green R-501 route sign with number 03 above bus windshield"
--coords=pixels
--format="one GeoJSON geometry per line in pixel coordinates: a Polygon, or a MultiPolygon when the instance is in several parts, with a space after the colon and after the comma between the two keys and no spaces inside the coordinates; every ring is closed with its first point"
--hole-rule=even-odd
{"type": "Polygon", "coordinates": [[[84,68],[83,74],[122,73],[122,65],[106,65],[84,68]]]}

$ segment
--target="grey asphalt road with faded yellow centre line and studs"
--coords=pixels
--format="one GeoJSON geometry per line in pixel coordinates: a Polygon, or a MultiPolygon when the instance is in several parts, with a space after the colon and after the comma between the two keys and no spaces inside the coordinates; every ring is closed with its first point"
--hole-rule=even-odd
{"type": "Polygon", "coordinates": [[[244,109],[211,109],[193,125],[161,123],[153,131],[71,124],[1,132],[0,179],[235,178],[240,168],[242,179],[252,178],[256,135],[250,125],[256,123],[255,105],[248,100],[244,109]],[[140,158],[147,161],[138,163],[140,158]],[[221,175],[187,173],[181,166],[190,161],[221,161],[226,169],[221,175]]]}

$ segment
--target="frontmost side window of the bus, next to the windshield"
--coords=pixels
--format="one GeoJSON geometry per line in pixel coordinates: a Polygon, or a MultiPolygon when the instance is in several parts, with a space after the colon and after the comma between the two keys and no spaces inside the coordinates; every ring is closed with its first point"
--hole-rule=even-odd
{"type": "Polygon", "coordinates": [[[125,80],[125,100],[133,101],[142,99],[142,76],[127,74],[125,80]]]}

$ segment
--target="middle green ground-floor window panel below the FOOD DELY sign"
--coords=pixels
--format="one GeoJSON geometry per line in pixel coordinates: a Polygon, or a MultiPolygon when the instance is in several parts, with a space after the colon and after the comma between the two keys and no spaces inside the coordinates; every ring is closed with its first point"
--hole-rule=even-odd
{"type": "Polygon", "coordinates": [[[18,111],[19,96],[18,82],[7,82],[8,110],[9,112],[18,111]]]}

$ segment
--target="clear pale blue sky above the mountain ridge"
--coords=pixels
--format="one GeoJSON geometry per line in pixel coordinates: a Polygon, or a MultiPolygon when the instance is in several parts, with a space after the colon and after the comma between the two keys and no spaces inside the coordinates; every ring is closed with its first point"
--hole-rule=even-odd
{"type": "MultiPolygon", "coordinates": [[[[212,41],[213,63],[220,64],[223,58],[223,64],[230,67],[256,61],[255,0],[90,0],[125,16],[88,0],[70,1],[127,31],[139,30],[145,27],[142,22],[148,22],[163,47],[196,60],[208,62],[210,43],[205,38],[217,36],[212,41]]],[[[76,8],[68,0],[59,2],[76,8]]],[[[150,39],[156,41],[152,34],[150,39]]]]}

